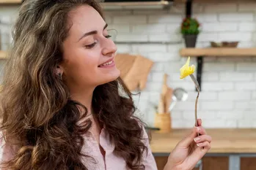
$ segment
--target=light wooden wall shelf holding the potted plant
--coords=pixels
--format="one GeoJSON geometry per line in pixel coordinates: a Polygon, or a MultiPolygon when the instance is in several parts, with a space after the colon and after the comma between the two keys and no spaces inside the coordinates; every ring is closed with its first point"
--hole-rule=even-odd
{"type": "Polygon", "coordinates": [[[235,57],[235,56],[256,56],[256,48],[228,48],[228,47],[211,47],[211,48],[183,48],[180,50],[183,57],[235,57]]]}

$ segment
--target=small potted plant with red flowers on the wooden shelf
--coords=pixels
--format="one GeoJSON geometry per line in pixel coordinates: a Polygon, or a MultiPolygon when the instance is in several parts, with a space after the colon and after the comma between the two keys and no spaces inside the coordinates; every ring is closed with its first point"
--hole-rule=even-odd
{"type": "Polygon", "coordinates": [[[197,35],[200,33],[200,23],[195,18],[184,18],[181,23],[181,34],[185,39],[186,47],[195,47],[197,35]]]}

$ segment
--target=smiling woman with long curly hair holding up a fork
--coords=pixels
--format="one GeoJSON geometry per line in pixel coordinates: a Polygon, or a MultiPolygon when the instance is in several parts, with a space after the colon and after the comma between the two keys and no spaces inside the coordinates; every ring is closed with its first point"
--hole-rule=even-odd
{"type": "MultiPolygon", "coordinates": [[[[23,2],[1,90],[1,169],[157,169],[109,37],[93,0],[23,2]]],[[[166,170],[210,149],[198,123],[166,170]]]]}

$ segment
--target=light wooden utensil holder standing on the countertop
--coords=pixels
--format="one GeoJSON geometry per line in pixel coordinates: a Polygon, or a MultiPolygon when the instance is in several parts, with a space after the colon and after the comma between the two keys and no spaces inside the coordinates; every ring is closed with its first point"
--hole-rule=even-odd
{"type": "Polygon", "coordinates": [[[165,134],[171,132],[172,121],[170,112],[156,113],[154,126],[160,128],[159,131],[156,131],[157,133],[165,134]]]}

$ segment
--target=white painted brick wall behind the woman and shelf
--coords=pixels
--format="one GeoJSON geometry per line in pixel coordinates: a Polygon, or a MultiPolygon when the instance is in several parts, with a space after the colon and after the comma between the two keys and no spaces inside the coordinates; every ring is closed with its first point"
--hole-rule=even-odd
{"type": "MultiPolygon", "coordinates": [[[[6,17],[16,10],[16,7],[1,7],[0,20],[8,20],[6,17]]],[[[256,2],[194,4],[194,17],[202,24],[197,47],[209,47],[209,41],[222,40],[239,41],[238,47],[256,47],[255,11],[256,2]]],[[[188,100],[178,102],[172,110],[172,128],[194,125],[197,93],[189,77],[179,78],[180,66],[186,61],[179,55],[184,47],[179,30],[184,13],[184,4],[175,4],[167,11],[106,11],[109,28],[118,31],[117,42],[139,42],[117,43],[118,52],[140,54],[155,62],[146,89],[140,96],[134,96],[143,120],[149,125],[153,125],[154,105],[158,104],[164,73],[169,74],[170,87],[182,87],[189,92],[188,100]]],[[[0,24],[0,31],[1,46],[7,46],[8,29],[0,24]]],[[[191,58],[191,63],[196,65],[196,58],[191,58]]],[[[207,128],[256,128],[256,58],[205,58],[198,109],[207,128]]]]}

